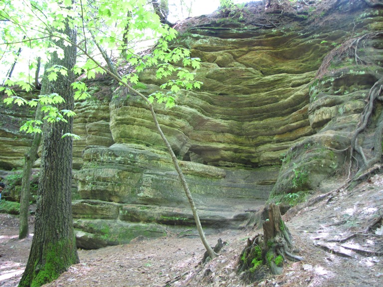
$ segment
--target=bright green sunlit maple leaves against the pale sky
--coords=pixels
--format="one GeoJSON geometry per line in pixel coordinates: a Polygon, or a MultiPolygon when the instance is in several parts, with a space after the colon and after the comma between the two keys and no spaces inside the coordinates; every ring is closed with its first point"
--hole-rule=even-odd
{"type": "MultiPolygon", "coordinates": [[[[230,1],[225,1],[229,6],[230,1]]],[[[56,45],[63,41],[64,45],[76,45],[82,55],[82,61],[77,63],[73,71],[67,71],[63,66],[53,65],[46,69],[45,75],[49,81],[56,81],[58,76],[67,76],[68,73],[82,75],[82,79],[94,79],[98,73],[106,73],[108,70],[99,63],[91,52],[97,46],[102,46],[107,54],[111,51],[125,50],[125,60],[132,69],[125,75],[121,75],[122,85],[135,85],[139,87],[140,79],[138,73],[144,69],[155,69],[158,79],[164,80],[161,90],[148,96],[150,103],[155,100],[165,103],[166,107],[173,107],[176,103],[177,94],[181,89],[199,89],[201,82],[194,80],[195,70],[199,68],[199,59],[191,58],[190,51],[183,47],[169,48],[169,42],[174,40],[177,31],[160,22],[159,17],[153,11],[152,6],[146,0],[100,0],[95,5],[94,1],[72,1],[65,0],[58,3],[56,0],[37,2],[24,2],[23,0],[12,0],[0,3],[0,18],[11,21],[0,22],[3,28],[0,32],[0,53],[3,65],[11,65],[15,60],[14,52],[18,48],[28,46],[31,54],[41,58],[41,66],[47,63],[53,53],[63,58],[63,50],[56,45]],[[5,6],[6,7],[5,7],[5,6]],[[6,11],[6,12],[5,12],[6,11]],[[81,16],[79,17],[79,14],[81,16]],[[64,33],[64,23],[69,22],[70,27],[78,27],[78,42],[72,43],[64,33]],[[129,33],[124,33],[129,27],[129,33]],[[98,31],[97,34],[94,31],[98,31]],[[28,35],[28,39],[24,35],[28,35]],[[124,35],[125,38],[122,37],[124,35]],[[92,39],[90,41],[89,39],[92,39]],[[155,38],[157,45],[149,54],[138,53],[135,43],[155,38]],[[4,61],[3,61],[4,60],[4,61]]],[[[17,61],[23,62],[23,53],[17,61]]],[[[29,55],[28,55],[29,56],[29,55]]],[[[126,63],[121,61],[121,63],[126,63]]],[[[28,59],[28,62],[31,62],[28,59]]],[[[4,103],[16,105],[29,105],[36,107],[42,105],[44,112],[43,121],[57,122],[66,121],[66,117],[74,116],[68,110],[60,110],[58,105],[62,102],[55,97],[25,100],[17,95],[15,87],[23,91],[31,89],[30,83],[34,79],[37,65],[32,61],[28,66],[29,71],[23,71],[17,76],[4,82],[0,88],[8,98],[4,103]],[[49,98],[50,101],[47,101],[49,98]]],[[[90,97],[85,81],[81,80],[72,84],[74,98],[76,101],[90,97]]],[[[56,95],[59,97],[59,95],[56,95]]],[[[30,121],[22,126],[21,131],[26,133],[41,133],[39,126],[41,122],[30,121]]],[[[71,136],[71,135],[69,135],[71,136]]]]}

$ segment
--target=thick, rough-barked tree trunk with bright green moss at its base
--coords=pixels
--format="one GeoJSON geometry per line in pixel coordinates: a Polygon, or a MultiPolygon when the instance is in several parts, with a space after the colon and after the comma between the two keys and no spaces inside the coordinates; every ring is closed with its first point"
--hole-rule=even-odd
{"type": "MultiPolygon", "coordinates": [[[[76,32],[67,25],[69,40],[75,43],[76,32]]],[[[44,94],[58,93],[65,103],[59,109],[73,110],[74,81],[72,68],[76,59],[75,45],[57,45],[64,50],[64,59],[57,54],[51,56],[50,66],[62,65],[68,75],[58,74],[55,82],[43,81],[44,94]]],[[[72,118],[45,124],[43,127],[43,150],[41,156],[40,180],[36,209],[36,222],[32,246],[19,287],[41,286],[56,279],[72,264],[79,262],[73,230],[71,181],[72,181],[72,138],[61,136],[71,133],[72,118]]]]}

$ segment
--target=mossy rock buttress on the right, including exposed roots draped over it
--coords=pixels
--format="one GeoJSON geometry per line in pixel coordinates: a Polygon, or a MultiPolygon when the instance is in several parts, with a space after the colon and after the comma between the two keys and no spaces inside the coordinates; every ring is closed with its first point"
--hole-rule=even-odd
{"type": "Polygon", "coordinates": [[[336,189],[344,184],[340,177],[355,179],[381,158],[376,134],[382,134],[382,103],[372,96],[383,84],[383,11],[359,4],[344,3],[347,13],[336,14],[334,34],[344,36],[326,38],[333,49],[310,85],[307,112],[315,135],[285,154],[272,197],[336,189]]]}

